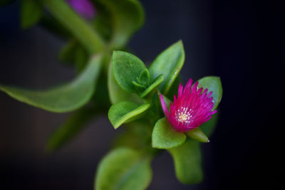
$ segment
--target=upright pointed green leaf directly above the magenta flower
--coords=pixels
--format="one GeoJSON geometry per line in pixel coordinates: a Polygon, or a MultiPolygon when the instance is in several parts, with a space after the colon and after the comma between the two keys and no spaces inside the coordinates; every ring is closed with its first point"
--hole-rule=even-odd
{"type": "Polygon", "coordinates": [[[159,89],[163,94],[167,94],[170,90],[177,75],[179,75],[184,60],[185,52],[183,44],[182,41],[178,41],[160,53],[150,65],[150,80],[154,80],[161,74],[165,76],[165,80],[159,86],[159,89]]]}

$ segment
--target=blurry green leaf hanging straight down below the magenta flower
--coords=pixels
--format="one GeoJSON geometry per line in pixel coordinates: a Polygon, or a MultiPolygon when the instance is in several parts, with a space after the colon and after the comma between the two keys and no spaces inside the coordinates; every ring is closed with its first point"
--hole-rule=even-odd
{"type": "Polygon", "coordinates": [[[175,174],[182,184],[197,184],[203,179],[199,142],[187,139],[179,147],[168,149],[175,164],[175,174]]]}

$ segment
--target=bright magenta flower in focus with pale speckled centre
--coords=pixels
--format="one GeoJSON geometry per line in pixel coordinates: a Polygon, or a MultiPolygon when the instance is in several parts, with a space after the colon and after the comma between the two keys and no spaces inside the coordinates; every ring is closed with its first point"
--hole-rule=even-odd
{"type": "Polygon", "coordinates": [[[193,80],[190,78],[188,83],[179,85],[177,98],[174,95],[173,104],[170,102],[170,112],[167,110],[163,95],[160,95],[162,110],[165,112],[167,120],[177,132],[187,132],[195,129],[212,118],[217,110],[212,111],[214,102],[212,91],[207,94],[206,88],[197,89],[198,82],[192,86],[193,80]]]}

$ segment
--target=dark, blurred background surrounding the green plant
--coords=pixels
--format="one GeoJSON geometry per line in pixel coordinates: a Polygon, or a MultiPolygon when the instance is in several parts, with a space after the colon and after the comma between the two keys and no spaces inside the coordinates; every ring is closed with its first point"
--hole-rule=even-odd
{"type": "MultiPolygon", "coordinates": [[[[204,181],[185,186],[165,153],[149,189],[281,189],[284,152],[284,6],[278,1],[142,1],[146,23],[130,48],[147,63],[182,39],[182,78],[222,78],[217,130],[203,144],[204,181]]],[[[43,88],[73,78],[58,65],[64,42],[40,26],[19,28],[19,2],[0,8],[0,83],[43,88]]],[[[105,115],[54,154],[54,114],[0,93],[0,189],[92,189],[95,168],[115,135],[105,115]]],[[[283,174],[284,175],[284,174],[283,174]]]]}

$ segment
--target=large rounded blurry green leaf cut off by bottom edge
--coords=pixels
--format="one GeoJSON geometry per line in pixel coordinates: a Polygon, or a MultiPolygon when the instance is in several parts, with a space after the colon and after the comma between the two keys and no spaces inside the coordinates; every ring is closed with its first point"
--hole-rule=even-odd
{"type": "Polygon", "coordinates": [[[100,162],[96,190],[142,190],[152,178],[150,157],[129,148],[114,149],[100,162]]]}

